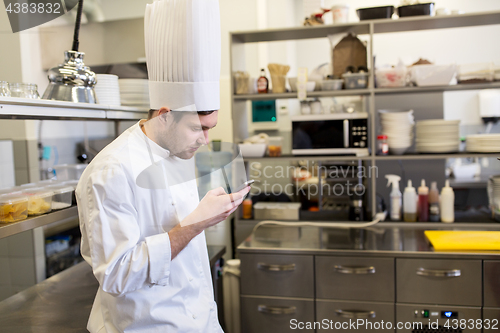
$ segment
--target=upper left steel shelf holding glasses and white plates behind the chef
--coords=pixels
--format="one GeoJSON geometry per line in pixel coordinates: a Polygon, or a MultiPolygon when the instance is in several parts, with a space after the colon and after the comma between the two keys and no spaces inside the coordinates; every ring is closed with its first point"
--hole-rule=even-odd
{"type": "Polygon", "coordinates": [[[136,120],[146,110],[102,104],[0,97],[0,119],[136,120]]]}

